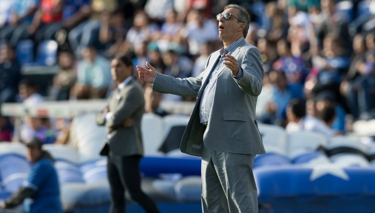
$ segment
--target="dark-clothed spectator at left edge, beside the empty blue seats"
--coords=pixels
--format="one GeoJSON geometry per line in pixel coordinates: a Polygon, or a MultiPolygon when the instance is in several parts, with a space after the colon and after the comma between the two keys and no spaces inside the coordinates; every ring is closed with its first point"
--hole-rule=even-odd
{"type": "Polygon", "coordinates": [[[18,85],[21,81],[21,65],[17,62],[15,50],[4,43],[0,47],[0,105],[16,102],[18,85]]]}

